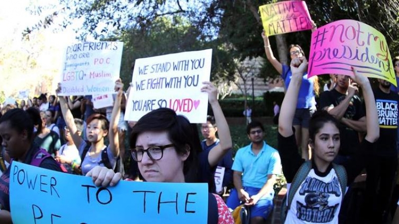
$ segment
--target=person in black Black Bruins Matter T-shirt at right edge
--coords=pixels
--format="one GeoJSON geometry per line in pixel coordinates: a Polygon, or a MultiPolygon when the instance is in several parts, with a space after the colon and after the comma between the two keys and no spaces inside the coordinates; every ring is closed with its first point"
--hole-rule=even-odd
{"type": "Polygon", "coordinates": [[[378,79],[378,88],[374,92],[380,138],[373,157],[367,163],[365,208],[367,221],[385,223],[388,216],[388,204],[391,198],[395,171],[398,166],[397,130],[399,95],[391,91],[391,83],[378,79]]]}

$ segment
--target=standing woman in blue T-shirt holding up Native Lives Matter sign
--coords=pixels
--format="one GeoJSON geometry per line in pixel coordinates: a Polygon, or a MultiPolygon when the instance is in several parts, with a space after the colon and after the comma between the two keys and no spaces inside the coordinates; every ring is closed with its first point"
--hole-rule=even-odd
{"type": "MultiPolygon", "coordinates": [[[[316,25],[313,23],[313,29],[316,25]]],[[[313,31],[312,29],[312,31],[313,31]]],[[[265,53],[267,60],[273,65],[277,72],[281,75],[284,80],[285,90],[291,81],[292,72],[291,68],[287,65],[281,64],[273,55],[271,50],[270,42],[268,36],[265,32],[262,32],[262,38],[265,47],[265,53]]],[[[291,44],[289,47],[289,54],[291,60],[295,58],[304,57],[304,52],[298,44],[291,44]]],[[[311,158],[311,150],[308,147],[309,142],[309,119],[312,114],[316,111],[316,99],[315,95],[319,94],[319,82],[318,77],[314,76],[308,79],[308,74],[305,71],[302,77],[302,85],[298,95],[298,102],[296,105],[296,111],[294,116],[293,125],[295,128],[295,138],[298,146],[301,147],[302,158],[309,160],[311,158]]]]}

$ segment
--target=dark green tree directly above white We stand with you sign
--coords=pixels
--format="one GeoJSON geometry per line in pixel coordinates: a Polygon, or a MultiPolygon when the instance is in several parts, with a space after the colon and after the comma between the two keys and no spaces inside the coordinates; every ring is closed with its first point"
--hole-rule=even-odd
{"type": "Polygon", "coordinates": [[[180,16],[158,17],[151,26],[114,33],[111,39],[124,42],[120,73],[122,80],[125,83],[132,80],[134,62],[138,58],[203,49],[198,35],[199,30],[180,16]]]}

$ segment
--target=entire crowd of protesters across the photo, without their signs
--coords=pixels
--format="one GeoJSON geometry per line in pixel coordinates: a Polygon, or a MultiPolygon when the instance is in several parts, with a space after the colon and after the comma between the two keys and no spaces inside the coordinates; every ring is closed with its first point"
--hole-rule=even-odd
{"type": "MultiPolygon", "coordinates": [[[[399,89],[383,79],[372,88],[352,68],[352,76],[330,74],[330,83],[319,93],[318,78],[307,77],[308,63],[299,45],[289,46],[287,66],[273,56],[268,37],[261,36],[266,57],[286,88],[281,110],[273,103],[277,149],[264,140],[264,126],[251,119],[248,107],[243,115],[249,144],[233,160],[230,130],[211,82],[203,82],[201,92],[208,94],[213,116],[200,126],[168,108],[148,112],[137,122],[125,121],[127,97],[121,80],[115,83],[113,106],[105,109],[94,109],[91,96],[58,96],[58,86],[57,95],[41,94],[1,110],[0,223],[12,223],[12,161],[90,176],[103,187],[121,180],[207,183],[208,223],[218,224],[233,223],[231,212],[241,205],[251,224],[265,223],[274,208],[276,177],[282,173],[287,180],[285,223],[345,223],[345,196],[365,172],[366,213],[359,222],[385,223],[389,214],[399,222],[399,214],[394,217],[399,89]],[[222,190],[216,190],[214,180],[218,166],[224,167],[222,190]],[[224,202],[220,196],[226,191],[224,202]]],[[[393,66],[399,75],[399,57],[393,66]]]]}

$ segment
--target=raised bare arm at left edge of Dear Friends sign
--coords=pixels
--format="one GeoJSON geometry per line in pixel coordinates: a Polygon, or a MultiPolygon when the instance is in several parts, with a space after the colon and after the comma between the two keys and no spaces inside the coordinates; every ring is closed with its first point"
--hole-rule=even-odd
{"type": "MultiPolygon", "coordinates": [[[[58,93],[61,91],[61,85],[58,84],[58,89],[56,90],[56,94],[58,97],[58,93]]],[[[73,115],[71,110],[69,110],[68,104],[66,102],[65,97],[58,97],[59,100],[59,107],[61,108],[62,116],[64,117],[66,127],[69,129],[69,132],[72,133],[72,140],[73,143],[76,145],[76,147],[79,147],[79,145],[82,143],[83,139],[82,137],[78,134],[76,125],[75,125],[75,120],[73,119],[73,115]]]]}

